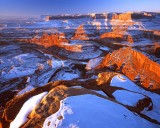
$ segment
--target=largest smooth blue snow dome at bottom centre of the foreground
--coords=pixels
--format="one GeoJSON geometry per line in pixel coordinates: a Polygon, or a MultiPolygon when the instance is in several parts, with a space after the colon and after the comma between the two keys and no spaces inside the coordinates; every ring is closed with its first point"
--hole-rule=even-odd
{"type": "Polygon", "coordinates": [[[125,107],[95,95],[68,97],[43,128],[158,128],[125,107]],[[61,118],[60,118],[61,117],[61,118]],[[58,119],[59,118],[59,119],[58,119]]]}

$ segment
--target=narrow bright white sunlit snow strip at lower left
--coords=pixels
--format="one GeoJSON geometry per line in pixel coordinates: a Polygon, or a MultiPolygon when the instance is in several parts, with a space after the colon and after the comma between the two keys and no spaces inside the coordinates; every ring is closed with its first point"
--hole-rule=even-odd
{"type": "Polygon", "coordinates": [[[21,110],[19,111],[16,118],[11,122],[10,128],[19,128],[23,125],[28,119],[28,114],[34,109],[34,107],[41,101],[41,99],[47,94],[48,92],[43,92],[36,96],[31,97],[28,99],[22,106],[21,110]]]}

